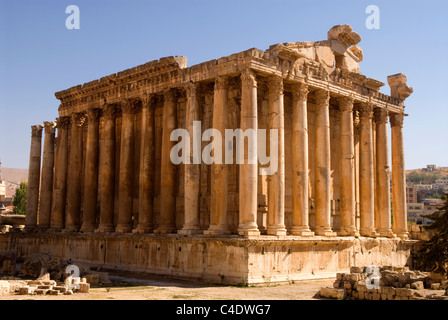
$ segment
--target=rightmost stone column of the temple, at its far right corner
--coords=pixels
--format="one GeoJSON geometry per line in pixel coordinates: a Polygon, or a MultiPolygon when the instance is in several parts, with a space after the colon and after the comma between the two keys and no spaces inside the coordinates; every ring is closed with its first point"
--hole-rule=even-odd
{"type": "Polygon", "coordinates": [[[402,113],[390,115],[392,128],[392,202],[393,202],[393,231],[400,238],[408,238],[406,212],[406,172],[404,165],[402,113]]]}

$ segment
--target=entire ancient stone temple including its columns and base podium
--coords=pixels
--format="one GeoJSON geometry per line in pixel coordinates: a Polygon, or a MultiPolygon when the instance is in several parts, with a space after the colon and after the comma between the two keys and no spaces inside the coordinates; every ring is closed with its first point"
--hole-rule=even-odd
{"type": "Polygon", "coordinates": [[[380,93],[384,83],[360,72],[360,41],[335,26],[324,41],[191,67],[167,57],[57,92],[59,118],[32,127],[26,231],[14,245],[224,283],[404,265],[403,102],[412,88],[396,74],[390,95],[380,93]],[[178,128],[193,146],[175,164],[178,128]],[[235,149],[212,128],[278,134],[243,138],[243,163],[197,161],[194,148],[235,149]],[[273,174],[249,161],[260,142],[276,146],[273,174]]]}

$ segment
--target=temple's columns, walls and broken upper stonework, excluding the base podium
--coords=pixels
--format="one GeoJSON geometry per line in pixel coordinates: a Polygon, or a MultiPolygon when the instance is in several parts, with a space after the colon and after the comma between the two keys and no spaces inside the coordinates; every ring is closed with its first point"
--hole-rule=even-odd
{"type": "Polygon", "coordinates": [[[46,122],[40,186],[42,126],[33,126],[26,230],[406,239],[403,101],[412,89],[398,74],[388,77],[391,95],[380,93],[384,83],[359,72],[360,40],[335,26],[326,41],[192,67],[167,57],[57,92],[56,144],[46,122]],[[171,131],[193,137],[193,121],[223,137],[277,129],[277,173],[259,175],[247,143],[244,164],[174,165],[171,131]]]}

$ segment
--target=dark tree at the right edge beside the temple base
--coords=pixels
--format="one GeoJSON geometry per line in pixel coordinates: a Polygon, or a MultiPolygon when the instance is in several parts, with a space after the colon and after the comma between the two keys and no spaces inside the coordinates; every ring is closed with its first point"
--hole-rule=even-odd
{"type": "Polygon", "coordinates": [[[433,230],[434,235],[414,252],[413,260],[416,267],[422,270],[446,276],[448,274],[448,197],[443,196],[443,199],[445,203],[439,210],[423,216],[433,221],[425,228],[433,230]]]}

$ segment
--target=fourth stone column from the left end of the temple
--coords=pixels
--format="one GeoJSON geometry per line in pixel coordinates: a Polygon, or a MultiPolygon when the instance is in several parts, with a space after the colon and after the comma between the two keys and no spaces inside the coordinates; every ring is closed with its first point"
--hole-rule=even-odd
{"type": "Polygon", "coordinates": [[[82,126],[84,113],[74,113],[70,120],[70,152],[67,169],[67,207],[64,232],[77,232],[81,215],[82,126]]]}

